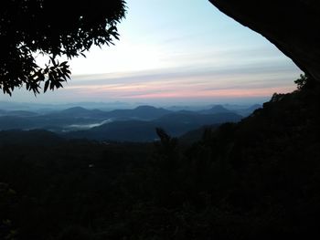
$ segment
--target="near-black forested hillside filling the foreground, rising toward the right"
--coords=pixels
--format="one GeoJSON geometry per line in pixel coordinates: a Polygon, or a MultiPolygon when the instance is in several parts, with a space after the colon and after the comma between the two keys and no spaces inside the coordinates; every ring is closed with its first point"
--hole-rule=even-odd
{"type": "Polygon", "coordinates": [[[145,144],[0,146],[0,236],[318,238],[319,110],[314,83],[189,147],[161,129],[145,144]]]}

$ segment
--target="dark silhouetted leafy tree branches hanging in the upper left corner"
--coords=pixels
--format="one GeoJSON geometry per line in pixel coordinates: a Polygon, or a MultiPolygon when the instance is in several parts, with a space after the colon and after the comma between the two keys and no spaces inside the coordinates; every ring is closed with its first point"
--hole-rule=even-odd
{"type": "Polygon", "coordinates": [[[39,93],[59,89],[69,78],[68,61],[92,45],[113,44],[116,25],[125,16],[123,0],[4,0],[0,3],[0,89],[16,87],[39,93]],[[48,57],[41,68],[35,56],[48,57]]]}

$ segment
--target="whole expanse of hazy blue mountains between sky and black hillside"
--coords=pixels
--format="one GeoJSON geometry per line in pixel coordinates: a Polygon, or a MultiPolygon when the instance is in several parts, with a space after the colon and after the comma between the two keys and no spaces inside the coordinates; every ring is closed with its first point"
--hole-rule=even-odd
{"type": "MultiPolygon", "coordinates": [[[[252,106],[252,109],[256,106],[252,106]]],[[[246,111],[246,110],[244,110],[246,111]]],[[[155,128],[181,136],[204,125],[236,122],[236,110],[213,105],[208,110],[166,110],[149,105],[129,110],[88,110],[72,107],[48,113],[0,110],[0,130],[51,130],[66,138],[100,141],[153,141],[155,128]]]]}

